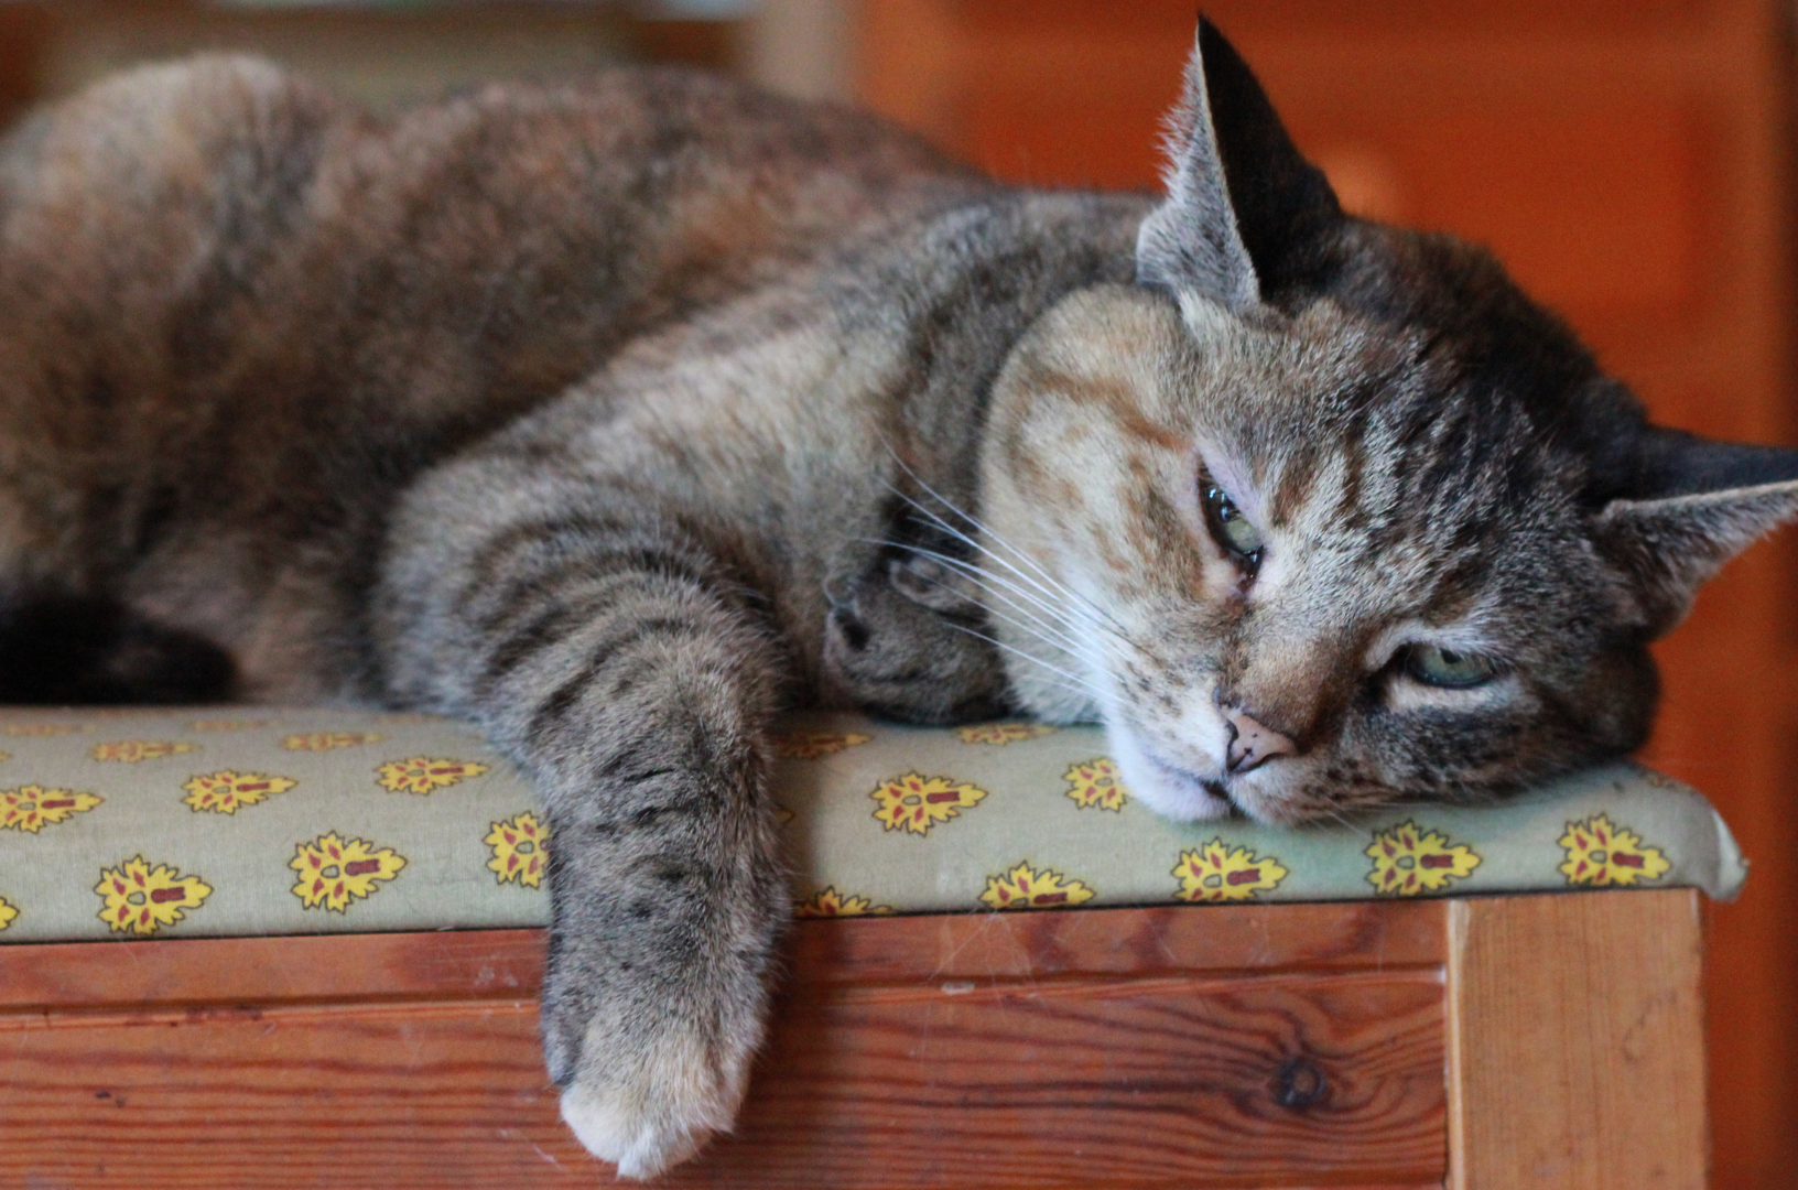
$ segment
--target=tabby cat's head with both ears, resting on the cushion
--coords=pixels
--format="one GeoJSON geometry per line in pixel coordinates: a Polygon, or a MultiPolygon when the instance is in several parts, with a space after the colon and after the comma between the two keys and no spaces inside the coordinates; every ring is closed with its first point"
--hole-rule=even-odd
{"type": "Polygon", "coordinates": [[[1485,252],[1348,218],[1201,25],[1136,286],[1014,351],[982,561],[1019,699],[1179,818],[1476,798],[1627,753],[1647,645],[1798,514],[1649,426],[1485,252]],[[1025,656],[1028,654],[1028,656],[1025,656]]]}

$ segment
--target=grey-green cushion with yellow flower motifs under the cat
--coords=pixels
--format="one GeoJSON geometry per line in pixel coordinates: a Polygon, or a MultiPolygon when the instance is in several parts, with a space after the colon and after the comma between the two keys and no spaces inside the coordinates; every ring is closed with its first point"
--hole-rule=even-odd
{"type": "MultiPolygon", "coordinates": [[[[525,782],[471,728],[351,710],[0,712],[0,942],[547,922],[525,782]]],[[[1636,766],[1501,807],[1170,823],[1097,728],[806,715],[779,802],[802,917],[1740,886],[1728,829],[1636,766]]]]}

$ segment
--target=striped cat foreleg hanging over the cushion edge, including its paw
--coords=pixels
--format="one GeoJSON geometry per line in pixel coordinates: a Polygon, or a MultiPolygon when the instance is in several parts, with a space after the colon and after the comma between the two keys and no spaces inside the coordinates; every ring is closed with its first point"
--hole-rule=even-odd
{"type": "Polygon", "coordinates": [[[649,1176],[730,1127],[762,1037],[791,911],[766,791],[779,651],[647,514],[466,471],[396,530],[388,681],[482,724],[536,784],[550,1077],[581,1141],[649,1176]]]}

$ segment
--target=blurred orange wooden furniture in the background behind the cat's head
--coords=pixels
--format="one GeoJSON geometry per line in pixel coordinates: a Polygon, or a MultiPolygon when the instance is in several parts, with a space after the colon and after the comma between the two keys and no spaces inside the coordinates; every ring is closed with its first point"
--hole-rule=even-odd
{"type": "MultiPolygon", "coordinates": [[[[1365,214],[1483,241],[1658,421],[1798,442],[1787,369],[1785,9],[1769,0],[1210,0],[1300,147],[1365,214]]],[[[1149,187],[1183,0],[874,0],[867,102],[1019,182],[1149,187]]],[[[1798,534],[1660,649],[1647,760],[1755,861],[1715,910],[1715,1185],[1798,1165],[1798,534]]]]}

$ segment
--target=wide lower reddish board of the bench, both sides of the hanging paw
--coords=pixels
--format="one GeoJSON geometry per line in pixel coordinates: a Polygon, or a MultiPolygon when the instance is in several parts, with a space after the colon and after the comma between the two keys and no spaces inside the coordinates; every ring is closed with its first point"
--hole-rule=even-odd
{"type": "MultiPolygon", "coordinates": [[[[5,1053],[0,1185],[602,1172],[557,1122],[529,1001],[146,1012],[5,1053]]],[[[737,1136],[672,1185],[1415,1183],[1442,1174],[1440,1071],[1440,985],[1415,974],[840,992],[791,1005],[737,1136]]]]}

